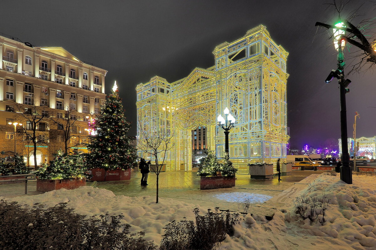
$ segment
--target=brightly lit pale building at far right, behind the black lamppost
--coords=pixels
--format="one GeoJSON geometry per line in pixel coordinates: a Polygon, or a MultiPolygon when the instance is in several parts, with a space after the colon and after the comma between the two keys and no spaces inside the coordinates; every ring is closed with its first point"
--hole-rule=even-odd
{"type": "MultiPolygon", "coordinates": [[[[341,138],[338,139],[338,147],[340,148],[340,155],[342,155],[342,143],[341,138]]],[[[366,156],[370,159],[374,159],[374,152],[376,150],[376,136],[373,137],[361,137],[356,138],[356,146],[358,151],[355,156],[366,156]]],[[[354,155],[354,139],[347,138],[347,148],[349,150],[350,157],[354,155]]]]}

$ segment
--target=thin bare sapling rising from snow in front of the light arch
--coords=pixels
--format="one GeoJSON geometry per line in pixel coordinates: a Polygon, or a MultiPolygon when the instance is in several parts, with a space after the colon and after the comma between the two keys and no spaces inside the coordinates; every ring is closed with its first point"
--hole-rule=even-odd
{"type": "MultiPolygon", "coordinates": [[[[140,128],[141,122],[139,122],[140,128]]],[[[173,135],[171,135],[170,130],[161,130],[150,132],[144,129],[140,129],[140,137],[138,138],[138,148],[143,150],[145,153],[149,153],[155,158],[155,168],[151,169],[157,177],[157,193],[156,193],[156,203],[158,203],[159,195],[159,174],[161,173],[162,166],[166,159],[167,151],[171,150],[174,144],[171,142],[173,135]],[[161,163],[161,164],[159,164],[161,163]]]]}

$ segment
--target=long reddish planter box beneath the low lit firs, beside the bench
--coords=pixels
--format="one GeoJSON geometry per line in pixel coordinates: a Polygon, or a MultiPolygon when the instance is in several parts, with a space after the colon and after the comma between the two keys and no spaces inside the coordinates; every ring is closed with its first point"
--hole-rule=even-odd
{"type": "Polygon", "coordinates": [[[72,178],[62,180],[36,179],[36,191],[49,192],[59,189],[76,189],[77,187],[86,186],[86,178],[72,178]]]}

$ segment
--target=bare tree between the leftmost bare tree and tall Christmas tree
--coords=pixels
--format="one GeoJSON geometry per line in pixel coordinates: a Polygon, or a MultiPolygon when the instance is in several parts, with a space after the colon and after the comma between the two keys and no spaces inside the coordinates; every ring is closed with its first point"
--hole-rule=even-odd
{"type": "Polygon", "coordinates": [[[58,130],[62,131],[64,150],[65,154],[68,154],[68,150],[73,147],[80,145],[80,139],[72,142],[73,137],[80,138],[77,135],[77,131],[74,131],[74,128],[77,128],[76,121],[81,117],[77,117],[77,112],[72,110],[70,106],[65,107],[64,118],[50,117],[50,120],[58,126],[58,130]]]}

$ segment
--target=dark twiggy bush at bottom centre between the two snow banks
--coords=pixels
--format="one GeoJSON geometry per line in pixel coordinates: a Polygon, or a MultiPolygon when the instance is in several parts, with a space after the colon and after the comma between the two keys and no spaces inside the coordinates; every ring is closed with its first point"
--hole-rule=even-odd
{"type": "Polygon", "coordinates": [[[212,212],[208,209],[206,215],[201,216],[199,209],[193,210],[196,222],[175,220],[167,225],[161,240],[160,250],[212,250],[217,249],[226,235],[233,235],[233,225],[239,222],[239,214],[229,211],[220,212],[218,208],[212,212]]]}

